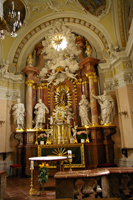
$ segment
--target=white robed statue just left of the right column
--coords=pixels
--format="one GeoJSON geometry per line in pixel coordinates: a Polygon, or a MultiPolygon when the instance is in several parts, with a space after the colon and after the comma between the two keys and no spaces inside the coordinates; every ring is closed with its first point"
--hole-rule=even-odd
{"type": "Polygon", "coordinates": [[[88,112],[90,110],[89,101],[86,99],[85,95],[82,95],[82,99],[79,102],[79,116],[81,117],[81,126],[91,124],[88,112]]]}

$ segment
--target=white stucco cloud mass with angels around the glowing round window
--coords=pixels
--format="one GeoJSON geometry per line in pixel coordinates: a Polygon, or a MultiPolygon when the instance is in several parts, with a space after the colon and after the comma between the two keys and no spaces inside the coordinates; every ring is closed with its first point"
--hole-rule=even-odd
{"type": "Polygon", "coordinates": [[[59,21],[53,23],[46,33],[45,40],[42,41],[42,54],[46,62],[39,77],[43,79],[47,75],[44,80],[48,81],[48,85],[52,82],[58,85],[66,78],[76,79],[75,72],[79,69],[76,56],[81,51],[78,50],[75,40],[72,30],[59,21]],[[57,70],[59,67],[62,68],[61,71],[57,70]]]}

